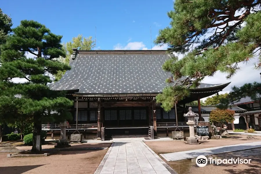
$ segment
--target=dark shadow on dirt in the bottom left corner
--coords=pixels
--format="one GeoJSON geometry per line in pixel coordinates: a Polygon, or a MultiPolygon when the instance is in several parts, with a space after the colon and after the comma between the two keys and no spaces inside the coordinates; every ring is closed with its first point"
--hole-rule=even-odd
{"type": "Polygon", "coordinates": [[[7,167],[0,167],[0,171],[1,173],[5,173],[5,174],[21,174],[44,165],[46,164],[31,165],[31,166],[7,166],[7,167]]]}

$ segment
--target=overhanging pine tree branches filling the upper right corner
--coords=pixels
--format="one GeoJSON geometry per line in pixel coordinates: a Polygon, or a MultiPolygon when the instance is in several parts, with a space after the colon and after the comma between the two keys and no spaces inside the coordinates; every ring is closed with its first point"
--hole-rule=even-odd
{"type": "Polygon", "coordinates": [[[239,62],[255,56],[259,56],[255,68],[261,68],[260,4],[261,0],[174,2],[174,10],[168,12],[170,27],[160,30],[155,40],[155,44],[168,44],[169,51],[184,54],[182,59],[174,57],[163,65],[173,75],[167,80],[173,86],[158,97],[165,110],[188,96],[188,87],[195,88],[217,71],[231,78],[240,69],[239,62]],[[179,80],[181,77],[186,78],[179,80]],[[175,94],[170,94],[173,91],[175,94]]]}

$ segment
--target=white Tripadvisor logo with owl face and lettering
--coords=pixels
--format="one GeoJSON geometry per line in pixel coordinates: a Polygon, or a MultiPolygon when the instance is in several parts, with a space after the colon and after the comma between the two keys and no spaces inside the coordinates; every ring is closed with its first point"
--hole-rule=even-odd
{"type": "Polygon", "coordinates": [[[209,159],[209,164],[250,164],[251,159],[240,159],[240,158],[229,158],[229,159],[218,159],[213,157],[205,157],[204,155],[200,155],[196,158],[196,164],[199,167],[204,167],[207,165],[209,159]]]}

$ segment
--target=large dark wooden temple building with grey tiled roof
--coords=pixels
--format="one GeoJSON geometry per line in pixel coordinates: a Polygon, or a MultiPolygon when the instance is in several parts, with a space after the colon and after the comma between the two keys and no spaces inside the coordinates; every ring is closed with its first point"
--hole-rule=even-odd
{"type": "MultiPolygon", "coordinates": [[[[75,101],[71,109],[74,119],[69,124],[76,124],[77,116],[78,128],[93,129],[98,132],[97,137],[102,127],[110,130],[110,135],[142,134],[148,132],[148,126],[157,133],[157,127],[175,123],[176,119],[178,124],[186,125],[186,104],[200,102],[229,85],[201,83],[177,103],[177,116],[175,108],[165,112],[155,97],[162,93],[165,80],[171,76],[162,70],[163,63],[171,57],[173,54],[165,50],[73,49],[71,70],[49,87],[67,91],[67,97],[75,101]]],[[[200,119],[202,113],[198,113],[200,119]]]]}

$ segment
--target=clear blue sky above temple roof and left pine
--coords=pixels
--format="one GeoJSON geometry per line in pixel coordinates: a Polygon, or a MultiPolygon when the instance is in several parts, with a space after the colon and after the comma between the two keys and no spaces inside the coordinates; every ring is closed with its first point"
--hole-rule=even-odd
{"type": "Polygon", "coordinates": [[[13,27],[32,19],[63,35],[63,42],[78,34],[94,39],[96,26],[98,49],[150,49],[150,26],[154,40],[158,30],[169,25],[166,13],[173,9],[173,0],[15,0],[3,1],[0,8],[12,17],[13,27]]]}

